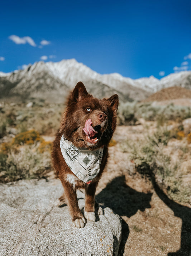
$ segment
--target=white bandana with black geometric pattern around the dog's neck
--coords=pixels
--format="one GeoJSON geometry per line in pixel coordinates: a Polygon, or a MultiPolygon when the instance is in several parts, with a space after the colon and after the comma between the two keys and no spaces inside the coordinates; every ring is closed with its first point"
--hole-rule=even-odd
{"type": "Polygon", "coordinates": [[[70,170],[83,182],[90,182],[99,174],[103,148],[89,150],[76,148],[69,140],[60,140],[62,156],[70,170]]]}

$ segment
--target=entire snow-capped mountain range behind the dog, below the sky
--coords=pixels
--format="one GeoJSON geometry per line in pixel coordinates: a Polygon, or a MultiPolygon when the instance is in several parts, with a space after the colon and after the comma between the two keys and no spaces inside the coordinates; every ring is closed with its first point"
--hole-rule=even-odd
{"type": "Polygon", "coordinates": [[[78,81],[98,98],[114,93],[121,101],[143,100],[150,94],[170,86],[191,89],[191,71],[168,75],[161,80],[150,76],[133,80],[118,73],[100,75],[75,59],[61,62],[36,62],[24,70],[0,72],[0,97],[20,96],[62,101],[78,81]]]}

